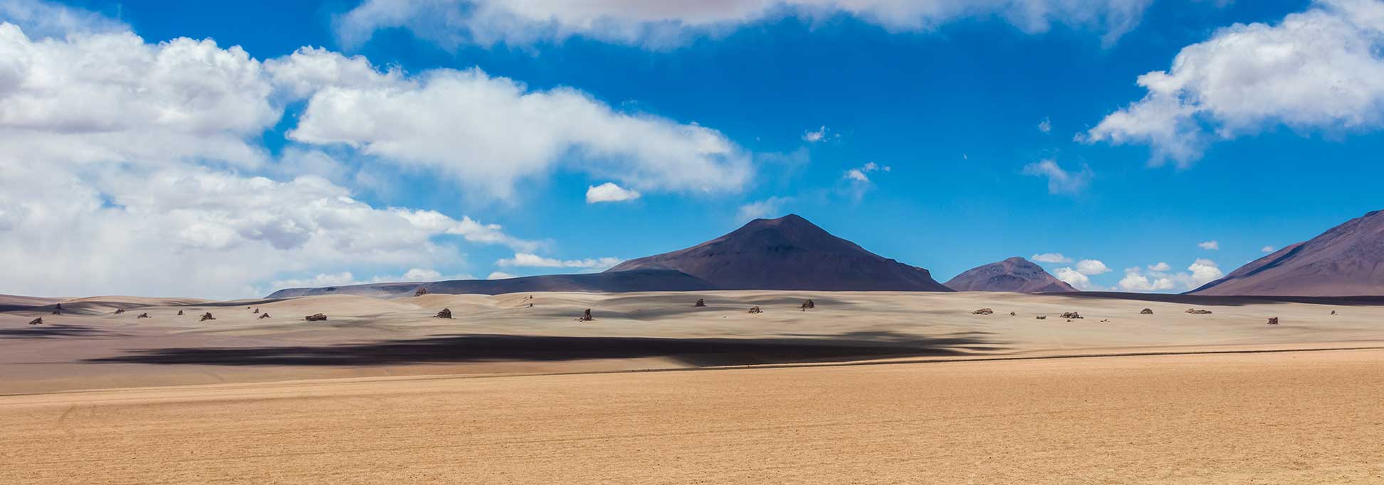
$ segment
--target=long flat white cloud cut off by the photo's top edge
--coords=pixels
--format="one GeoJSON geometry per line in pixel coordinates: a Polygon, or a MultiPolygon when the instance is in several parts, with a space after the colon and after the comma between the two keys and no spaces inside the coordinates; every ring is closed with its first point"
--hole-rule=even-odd
{"type": "Polygon", "coordinates": [[[976,18],[999,18],[1023,32],[1066,25],[1100,32],[1110,44],[1139,23],[1151,0],[367,0],[336,19],[338,37],[360,46],[375,30],[407,28],[454,48],[527,46],[567,37],[662,50],[740,26],[796,17],[851,15],[891,32],[926,32],[976,18]]]}

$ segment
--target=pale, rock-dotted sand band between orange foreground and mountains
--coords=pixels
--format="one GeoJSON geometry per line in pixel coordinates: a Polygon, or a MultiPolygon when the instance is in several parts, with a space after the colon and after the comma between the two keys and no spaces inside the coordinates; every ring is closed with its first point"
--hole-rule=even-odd
{"type": "Polygon", "coordinates": [[[0,394],[400,374],[1384,347],[1384,305],[1370,304],[771,290],[531,296],[93,297],[62,300],[68,312],[58,316],[47,307],[10,310],[0,312],[0,394]],[[696,298],[706,298],[707,307],[693,308],[696,298]],[[803,298],[814,298],[817,308],[799,311],[803,298]],[[752,305],[764,314],[747,314],[752,305]],[[1183,314],[1190,305],[1214,314],[1183,314]],[[455,318],[433,318],[443,307],[455,318]],[[980,307],[995,314],[970,314],[980,307]],[[1156,314],[1139,315],[1145,307],[1156,314]],[[116,308],[126,312],[115,315],[116,308]],[[257,319],[253,308],[273,318],[257,319]],[[577,322],[585,308],[595,322],[577,322]],[[176,315],[179,310],[184,315],[176,315]],[[1330,315],[1333,310],[1338,315],[1330,315]],[[206,311],[216,319],[198,322],[206,311]],[[1085,319],[1057,318],[1066,311],[1085,319]],[[141,312],[152,318],[136,319],[141,312]],[[316,312],[329,319],[303,321],[316,312]],[[35,316],[46,325],[26,325],[35,316]],[[1268,316],[1283,323],[1268,326],[1268,316]]]}

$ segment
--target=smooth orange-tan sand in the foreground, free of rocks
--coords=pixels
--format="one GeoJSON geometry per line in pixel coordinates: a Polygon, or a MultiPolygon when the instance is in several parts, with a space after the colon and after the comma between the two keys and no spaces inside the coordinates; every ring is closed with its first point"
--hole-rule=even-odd
{"type": "Polygon", "coordinates": [[[1380,484],[1384,351],[0,397],[0,484],[1380,484]]]}

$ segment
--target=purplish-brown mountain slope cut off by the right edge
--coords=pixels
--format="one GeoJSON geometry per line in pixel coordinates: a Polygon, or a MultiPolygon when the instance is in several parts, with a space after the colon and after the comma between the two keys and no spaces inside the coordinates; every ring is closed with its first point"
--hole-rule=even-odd
{"type": "Polygon", "coordinates": [[[1192,294],[1384,294],[1384,213],[1352,218],[1320,236],[1240,267],[1192,294]]]}

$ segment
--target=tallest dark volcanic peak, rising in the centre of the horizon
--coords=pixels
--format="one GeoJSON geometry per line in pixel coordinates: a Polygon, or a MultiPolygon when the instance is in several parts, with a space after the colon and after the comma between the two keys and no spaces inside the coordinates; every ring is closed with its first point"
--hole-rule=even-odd
{"type": "Polygon", "coordinates": [[[677,269],[722,289],[949,292],[927,269],[866,251],[796,214],[757,218],[709,242],[606,272],[632,269],[677,269]]]}

